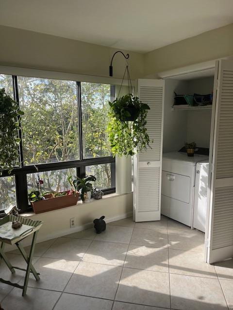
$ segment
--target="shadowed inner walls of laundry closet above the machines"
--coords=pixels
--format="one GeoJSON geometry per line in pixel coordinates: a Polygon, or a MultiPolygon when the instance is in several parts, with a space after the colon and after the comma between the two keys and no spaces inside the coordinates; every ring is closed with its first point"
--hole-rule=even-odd
{"type": "Polygon", "coordinates": [[[194,80],[166,79],[163,152],[179,151],[184,142],[195,141],[209,148],[212,110],[171,110],[174,91],[177,94],[207,94],[213,92],[214,77],[194,80]]]}

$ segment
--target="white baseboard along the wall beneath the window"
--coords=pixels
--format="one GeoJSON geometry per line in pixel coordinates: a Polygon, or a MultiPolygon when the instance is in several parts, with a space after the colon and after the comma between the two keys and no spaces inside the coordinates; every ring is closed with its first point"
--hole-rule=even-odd
{"type": "MultiPolygon", "coordinates": [[[[104,220],[105,220],[106,223],[111,223],[111,222],[114,222],[114,221],[117,221],[117,220],[120,220],[120,219],[123,219],[123,218],[126,218],[126,217],[132,217],[132,216],[133,216],[133,212],[128,212],[128,213],[124,213],[124,214],[116,216],[116,217],[104,218],[104,220]]],[[[54,233],[50,233],[46,237],[42,237],[42,238],[40,238],[39,234],[38,234],[38,238],[37,238],[36,243],[40,243],[40,242],[48,241],[50,239],[55,239],[55,238],[63,237],[63,236],[66,236],[67,234],[70,234],[70,233],[78,233],[78,232],[81,232],[81,231],[83,231],[85,229],[88,229],[88,228],[91,228],[91,227],[94,227],[93,222],[89,222],[89,223],[86,223],[86,224],[83,224],[83,225],[80,225],[80,226],[76,226],[74,228],[59,230],[59,231],[56,231],[54,233]]],[[[25,239],[24,242],[23,242],[23,246],[27,247],[27,246],[30,246],[30,245],[31,245],[30,239],[28,239],[28,240],[25,239]]],[[[14,248],[12,248],[12,246],[6,245],[5,252],[12,251],[13,249],[14,248]]]]}

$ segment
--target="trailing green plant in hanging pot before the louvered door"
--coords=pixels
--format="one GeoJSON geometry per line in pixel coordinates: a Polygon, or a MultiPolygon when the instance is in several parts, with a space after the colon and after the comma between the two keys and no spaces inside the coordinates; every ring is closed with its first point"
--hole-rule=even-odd
{"type": "Polygon", "coordinates": [[[112,154],[134,155],[150,147],[147,133],[147,112],[150,107],[138,97],[128,93],[116,98],[110,105],[110,122],[107,131],[112,154]]]}

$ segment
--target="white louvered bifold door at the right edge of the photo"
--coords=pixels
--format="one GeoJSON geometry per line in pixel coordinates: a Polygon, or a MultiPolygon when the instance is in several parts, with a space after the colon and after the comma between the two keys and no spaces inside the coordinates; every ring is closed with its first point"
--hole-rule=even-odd
{"type": "Polygon", "coordinates": [[[210,150],[208,263],[233,256],[233,61],[221,60],[217,65],[210,150]]]}

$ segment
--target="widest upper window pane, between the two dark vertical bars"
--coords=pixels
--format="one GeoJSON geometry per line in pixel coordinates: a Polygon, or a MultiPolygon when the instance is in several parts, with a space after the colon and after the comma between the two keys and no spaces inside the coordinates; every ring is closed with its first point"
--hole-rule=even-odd
{"type": "Polygon", "coordinates": [[[80,159],[76,82],[17,80],[24,164],[80,159]]]}

